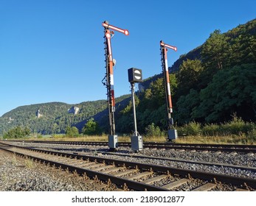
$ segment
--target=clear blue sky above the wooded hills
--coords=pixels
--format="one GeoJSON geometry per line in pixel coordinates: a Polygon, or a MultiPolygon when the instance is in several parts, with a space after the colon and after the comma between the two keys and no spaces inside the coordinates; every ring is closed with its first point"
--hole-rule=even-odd
{"type": "Polygon", "coordinates": [[[121,96],[130,93],[128,68],[144,79],[162,72],[160,40],[178,48],[168,52],[172,65],[215,29],[254,19],[255,8],[255,0],[0,0],[0,116],[28,104],[107,99],[105,20],[130,32],[111,40],[121,96]]]}

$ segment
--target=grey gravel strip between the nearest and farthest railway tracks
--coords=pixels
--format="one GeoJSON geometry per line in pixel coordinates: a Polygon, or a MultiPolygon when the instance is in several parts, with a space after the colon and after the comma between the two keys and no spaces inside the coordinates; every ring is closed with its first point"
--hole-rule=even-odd
{"type": "Polygon", "coordinates": [[[58,150],[59,152],[79,152],[91,156],[99,156],[106,158],[115,158],[117,160],[126,160],[138,163],[148,163],[154,165],[170,166],[176,168],[190,169],[195,171],[205,171],[215,174],[226,174],[234,177],[256,178],[255,171],[243,170],[240,168],[230,168],[226,166],[207,166],[198,163],[182,163],[172,160],[161,159],[145,159],[133,157],[134,155],[142,154],[148,157],[169,157],[181,160],[193,160],[195,162],[206,163],[223,163],[235,166],[250,166],[256,168],[256,154],[253,153],[232,153],[232,152],[195,152],[174,149],[143,149],[139,153],[134,153],[131,148],[120,147],[117,149],[117,154],[128,154],[129,156],[118,156],[114,154],[104,154],[108,152],[107,146],[75,146],[75,145],[47,145],[38,143],[25,143],[24,146],[36,146],[46,150],[58,150]],[[130,157],[131,156],[131,157],[130,157]]]}

